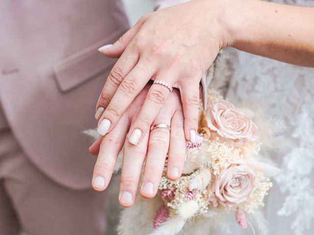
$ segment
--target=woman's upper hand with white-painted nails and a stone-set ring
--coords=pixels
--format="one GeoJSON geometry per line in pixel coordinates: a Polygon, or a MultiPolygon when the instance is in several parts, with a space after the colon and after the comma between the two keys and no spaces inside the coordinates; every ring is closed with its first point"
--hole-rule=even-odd
{"type": "MultiPolygon", "coordinates": [[[[150,79],[177,85],[183,103],[186,140],[195,141],[198,125],[199,82],[222,47],[227,45],[225,0],[192,0],[144,16],[111,47],[101,50],[120,57],[112,68],[97,103],[98,131],[110,132],[132,100],[150,79]]],[[[168,88],[154,84],[147,93],[130,139],[137,144],[149,131],[168,88]]]]}

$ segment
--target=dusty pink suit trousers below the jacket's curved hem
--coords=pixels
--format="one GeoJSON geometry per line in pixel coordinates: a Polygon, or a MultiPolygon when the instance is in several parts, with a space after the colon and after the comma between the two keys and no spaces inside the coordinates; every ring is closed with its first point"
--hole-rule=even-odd
{"type": "Polygon", "coordinates": [[[104,235],[105,193],[53,182],[26,158],[10,130],[0,132],[0,235],[104,235]]]}

